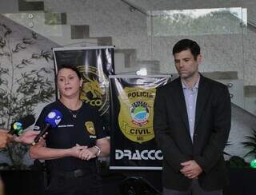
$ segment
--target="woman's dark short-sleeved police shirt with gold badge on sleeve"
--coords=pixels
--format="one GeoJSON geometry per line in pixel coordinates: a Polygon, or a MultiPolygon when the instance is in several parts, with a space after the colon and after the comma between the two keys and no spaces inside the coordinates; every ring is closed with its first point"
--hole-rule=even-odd
{"type": "MultiPolygon", "coordinates": [[[[62,119],[57,127],[51,128],[46,135],[46,146],[53,149],[70,149],[76,144],[92,147],[96,140],[106,137],[102,127],[101,117],[94,107],[82,103],[80,109],[74,111],[66,108],[61,101],[54,101],[42,109],[34,130],[42,130],[46,126],[45,118],[52,109],[58,109],[62,113],[62,119]]],[[[90,161],[83,161],[77,157],[62,157],[53,160],[46,160],[49,170],[72,171],[75,169],[87,169],[88,166],[96,168],[96,158],[90,161]]]]}

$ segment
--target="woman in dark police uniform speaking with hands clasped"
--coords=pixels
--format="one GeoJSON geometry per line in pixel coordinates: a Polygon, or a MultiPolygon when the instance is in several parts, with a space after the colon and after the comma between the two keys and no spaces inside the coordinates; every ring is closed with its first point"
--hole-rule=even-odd
{"type": "Polygon", "coordinates": [[[46,160],[50,174],[47,194],[102,194],[96,158],[110,152],[98,111],[79,99],[82,78],[74,66],[62,66],[56,77],[60,99],[46,105],[34,129],[46,126],[46,116],[57,109],[62,119],[46,141],[30,148],[30,157],[46,160]]]}

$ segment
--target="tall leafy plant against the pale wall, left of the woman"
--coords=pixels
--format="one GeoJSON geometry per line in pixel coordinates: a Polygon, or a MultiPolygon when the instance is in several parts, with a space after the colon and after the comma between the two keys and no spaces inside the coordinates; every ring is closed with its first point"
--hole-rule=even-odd
{"type": "MultiPolygon", "coordinates": [[[[37,42],[34,32],[18,41],[12,34],[9,26],[0,23],[0,127],[6,129],[12,121],[34,114],[38,103],[50,101],[54,95],[54,86],[46,77],[53,70],[35,67],[42,61],[50,62],[50,52],[28,53],[27,49],[37,42]]],[[[2,153],[10,158],[11,169],[27,169],[23,163],[27,150],[26,145],[13,142],[2,153]]]]}

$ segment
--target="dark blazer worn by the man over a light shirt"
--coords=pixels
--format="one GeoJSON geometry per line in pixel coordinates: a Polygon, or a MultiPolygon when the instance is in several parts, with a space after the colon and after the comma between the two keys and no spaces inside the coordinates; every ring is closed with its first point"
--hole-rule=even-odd
{"type": "Polygon", "coordinates": [[[199,184],[206,191],[228,183],[223,149],[230,133],[230,94],[222,83],[200,75],[193,142],[180,78],[157,89],[154,133],[163,153],[163,187],[186,190],[191,180],[180,173],[184,161],[202,168],[199,184]]]}

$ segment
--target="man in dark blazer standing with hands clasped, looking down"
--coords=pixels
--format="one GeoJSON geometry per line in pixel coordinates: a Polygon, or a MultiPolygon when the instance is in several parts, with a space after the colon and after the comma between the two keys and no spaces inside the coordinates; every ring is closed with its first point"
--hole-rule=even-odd
{"type": "Polygon", "coordinates": [[[179,78],[159,87],[154,101],[163,194],[220,195],[228,182],[223,149],[230,133],[230,94],[198,72],[197,42],[180,40],[173,55],[179,78]]]}

